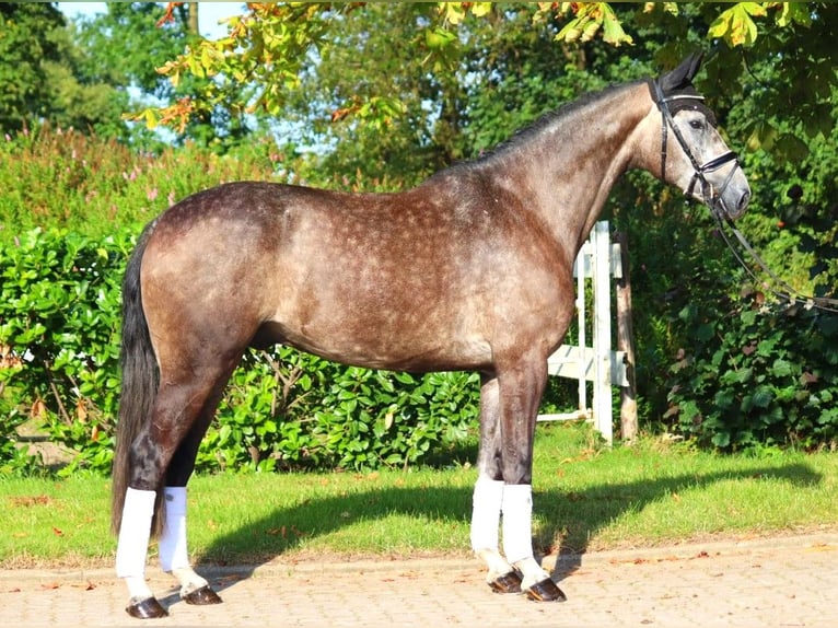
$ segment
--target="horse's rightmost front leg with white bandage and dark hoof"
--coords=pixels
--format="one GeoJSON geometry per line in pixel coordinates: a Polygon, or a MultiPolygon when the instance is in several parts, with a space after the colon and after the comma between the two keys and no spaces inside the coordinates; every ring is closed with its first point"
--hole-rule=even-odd
{"type": "Polygon", "coordinates": [[[522,573],[532,600],[563,602],[565,594],[533,556],[533,440],[547,382],[547,361],[532,356],[499,370],[503,554],[522,573]]]}

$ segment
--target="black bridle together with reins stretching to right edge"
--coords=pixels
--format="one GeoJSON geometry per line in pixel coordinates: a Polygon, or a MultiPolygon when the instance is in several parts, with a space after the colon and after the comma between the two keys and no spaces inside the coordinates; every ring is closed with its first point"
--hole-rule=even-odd
{"type": "Polygon", "coordinates": [[[675,125],[675,120],[673,119],[672,112],[670,111],[670,103],[684,101],[684,100],[701,102],[705,100],[703,96],[700,96],[699,94],[690,94],[690,93],[673,94],[671,96],[666,96],[664,95],[663,90],[661,89],[661,85],[659,84],[657,81],[650,81],[650,82],[652,85],[654,85],[655,104],[657,105],[657,108],[661,111],[661,118],[662,118],[661,119],[661,179],[666,181],[666,139],[667,139],[667,131],[670,128],[672,128],[672,132],[675,136],[675,138],[678,140],[678,144],[680,144],[680,148],[684,151],[684,154],[687,155],[687,158],[689,159],[689,163],[692,165],[692,178],[690,179],[689,186],[686,189],[686,195],[691,196],[692,190],[696,187],[696,183],[701,184],[701,198],[705,201],[705,203],[710,208],[710,213],[713,216],[713,219],[715,220],[715,223],[719,226],[719,233],[724,240],[724,243],[733,253],[733,256],[736,258],[740,265],[745,269],[745,271],[750,276],[750,278],[757,284],[761,284],[763,288],[771,292],[775,296],[778,296],[790,303],[802,304],[806,309],[816,307],[818,310],[823,310],[826,312],[838,312],[838,300],[827,299],[824,296],[808,296],[805,294],[801,294],[798,290],[792,288],[788,282],[780,279],[768,267],[765,260],[761,257],[759,257],[759,255],[757,255],[757,252],[754,249],[750,243],[745,239],[742,232],[733,225],[733,221],[730,218],[731,212],[728,210],[728,207],[724,205],[722,195],[724,194],[724,190],[728,188],[728,185],[730,184],[731,178],[733,178],[733,174],[736,172],[736,168],[742,167],[738,161],[738,156],[736,155],[735,152],[728,151],[726,153],[723,153],[717,158],[711,159],[705,164],[699,164],[698,160],[689,150],[689,147],[687,146],[687,142],[684,139],[684,135],[680,132],[680,129],[675,125]],[[718,193],[714,194],[715,190],[713,188],[713,185],[709,181],[707,181],[707,177],[705,176],[705,174],[719,170],[720,167],[722,167],[724,164],[726,164],[730,161],[734,162],[734,165],[731,168],[731,172],[728,173],[728,176],[724,178],[724,182],[722,183],[718,193]],[[736,240],[740,242],[742,247],[748,253],[748,255],[750,255],[750,257],[754,259],[754,261],[756,261],[759,268],[771,278],[773,286],[779,286],[779,289],[775,288],[772,284],[769,284],[766,281],[759,280],[756,274],[754,274],[754,271],[748,267],[748,265],[745,263],[745,260],[742,258],[740,253],[734,247],[733,242],[731,241],[730,236],[725,232],[725,225],[733,232],[733,234],[736,236],[736,240]]]}

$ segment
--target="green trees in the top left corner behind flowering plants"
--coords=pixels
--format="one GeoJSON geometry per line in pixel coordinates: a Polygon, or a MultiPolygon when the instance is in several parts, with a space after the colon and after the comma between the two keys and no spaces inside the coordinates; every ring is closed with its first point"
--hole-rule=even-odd
{"type": "MultiPolygon", "coordinates": [[[[166,11],[159,3],[108,2],[105,12],[68,24],[54,2],[2,3],[0,129],[50,124],[159,149],[162,138],[146,125],[130,124],[125,114],[199,88],[196,78],[175,89],[156,70],[193,36],[190,13],[187,5],[177,7],[161,24],[166,11]]],[[[228,113],[211,112],[195,116],[177,139],[238,139],[243,133],[236,125],[228,113]]]]}

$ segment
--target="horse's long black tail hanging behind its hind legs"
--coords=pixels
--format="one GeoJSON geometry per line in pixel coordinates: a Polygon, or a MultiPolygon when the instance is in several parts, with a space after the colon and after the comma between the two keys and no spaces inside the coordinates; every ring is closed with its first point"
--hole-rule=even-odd
{"type": "MultiPolygon", "coordinates": [[[[123,381],[112,473],[110,521],[116,534],[119,533],[119,526],[123,522],[125,492],[130,479],[131,443],[140,433],[143,425],[151,420],[160,380],[158,361],[149,336],[149,326],[142,311],[142,293],[140,291],[140,266],[146,245],[153,230],[154,222],[150,223],[140,235],[123,278],[123,344],[120,356],[123,381]]],[[[162,487],[159,490],[162,491],[162,487]]],[[[160,532],[162,525],[161,510],[162,499],[158,495],[153,532],[160,532]]]]}

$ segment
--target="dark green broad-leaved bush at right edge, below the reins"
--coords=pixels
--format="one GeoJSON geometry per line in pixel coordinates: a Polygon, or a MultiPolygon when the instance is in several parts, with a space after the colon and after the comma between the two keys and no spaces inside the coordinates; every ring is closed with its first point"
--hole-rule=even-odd
{"type": "Polygon", "coordinates": [[[761,295],[729,314],[687,306],[691,345],[672,365],[668,416],[702,445],[838,444],[838,315],[761,295]]]}

